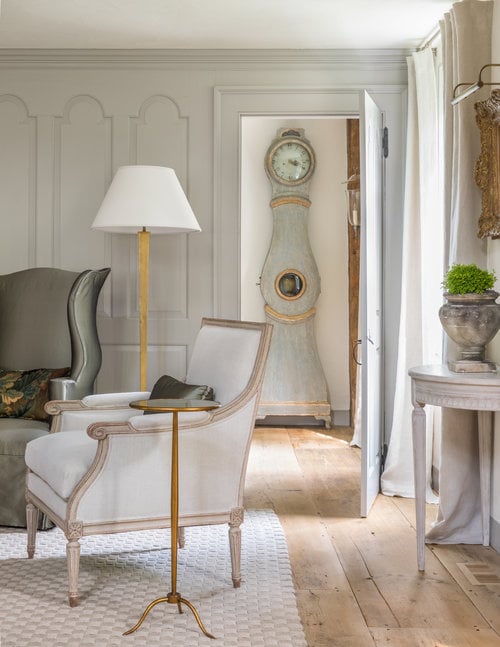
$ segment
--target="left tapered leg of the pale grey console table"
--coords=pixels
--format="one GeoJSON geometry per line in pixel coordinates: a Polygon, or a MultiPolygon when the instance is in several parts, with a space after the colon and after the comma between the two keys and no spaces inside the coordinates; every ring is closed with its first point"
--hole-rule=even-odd
{"type": "Polygon", "coordinates": [[[415,482],[415,513],[417,524],[418,570],[425,570],[425,445],[426,424],[424,405],[414,404],[412,413],[413,474],[415,482]]]}

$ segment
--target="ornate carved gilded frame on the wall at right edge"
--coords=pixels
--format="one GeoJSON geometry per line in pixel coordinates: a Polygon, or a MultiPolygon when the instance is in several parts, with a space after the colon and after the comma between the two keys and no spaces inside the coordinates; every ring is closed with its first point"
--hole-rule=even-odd
{"type": "Polygon", "coordinates": [[[475,104],[476,123],[481,134],[481,154],[474,167],[474,179],[482,192],[478,238],[500,237],[500,90],[475,104]]]}

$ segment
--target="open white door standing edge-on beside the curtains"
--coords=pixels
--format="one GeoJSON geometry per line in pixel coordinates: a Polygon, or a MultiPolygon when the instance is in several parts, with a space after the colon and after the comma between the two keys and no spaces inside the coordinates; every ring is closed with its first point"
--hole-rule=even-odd
{"type": "Polygon", "coordinates": [[[361,516],[380,488],[383,444],[382,208],[383,118],[367,92],[360,97],[361,166],[361,516]]]}

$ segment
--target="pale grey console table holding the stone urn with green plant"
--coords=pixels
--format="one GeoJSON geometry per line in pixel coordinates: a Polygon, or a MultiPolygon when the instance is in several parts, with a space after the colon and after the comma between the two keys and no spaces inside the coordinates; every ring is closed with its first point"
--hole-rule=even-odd
{"type": "Polygon", "coordinates": [[[425,405],[468,409],[478,413],[479,478],[483,544],[490,543],[490,483],[493,412],[500,411],[497,373],[454,373],[444,364],[418,366],[408,371],[412,394],[413,467],[417,523],[418,569],[425,569],[426,416],[425,405]]]}

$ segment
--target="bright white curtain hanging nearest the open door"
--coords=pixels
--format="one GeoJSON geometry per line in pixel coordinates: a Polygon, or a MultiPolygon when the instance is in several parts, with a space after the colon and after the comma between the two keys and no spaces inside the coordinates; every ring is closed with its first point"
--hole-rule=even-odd
{"type": "MultiPolygon", "coordinates": [[[[408,64],[408,125],[403,226],[403,268],[393,424],[381,490],[413,497],[411,384],[408,369],[441,363],[443,185],[439,136],[438,78],[431,48],[408,64]]],[[[427,410],[427,494],[431,490],[434,426],[439,411],[427,410]]]]}

